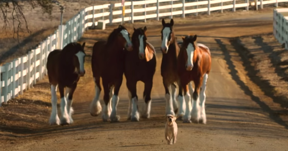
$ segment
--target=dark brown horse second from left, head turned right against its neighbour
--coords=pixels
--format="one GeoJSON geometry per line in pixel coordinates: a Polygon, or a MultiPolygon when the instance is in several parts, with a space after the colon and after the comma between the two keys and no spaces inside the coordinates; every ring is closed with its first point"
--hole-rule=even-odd
{"type": "Polygon", "coordinates": [[[119,102],[118,93],[123,80],[126,50],[132,51],[132,43],[129,32],[122,25],[112,31],[107,41],[98,41],[93,46],[91,63],[95,97],[90,105],[90,114],[98,116],[102,111],[99,100],[101,77],[105,103],[102,114],[103,121],[119,122],[120,119],[116,109],[119,102]]]}

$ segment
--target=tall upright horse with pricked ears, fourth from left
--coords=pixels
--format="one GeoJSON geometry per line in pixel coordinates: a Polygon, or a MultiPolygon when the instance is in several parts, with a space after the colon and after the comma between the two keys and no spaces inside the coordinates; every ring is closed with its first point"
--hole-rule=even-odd
{"type": "MultiPolygon", "coordinates": [[[[180,48],[173,30],[173,25],[173,19],[170,20],[170,23],[165,23],[165,20],[162,19],[163,27],[161,30],[161,51],[163,57],[161,62],[161,76],[165,88],[166,115],[172,114],[175,116],[175,113],[178,111],[178,103],[176,100],[176,83],[179,85],[179,77],[177,74],[177,57],[180,48]]],[[[193,89],[191,83],[189,83],[189,88],[193,89]]],[[[179,101],[179,103],[180,108],[177,116],[181,120],[182,116],[185,114],[185,102],[179,101]]],[[[189,106],[191,106],[191,103],[189,106]]]]}

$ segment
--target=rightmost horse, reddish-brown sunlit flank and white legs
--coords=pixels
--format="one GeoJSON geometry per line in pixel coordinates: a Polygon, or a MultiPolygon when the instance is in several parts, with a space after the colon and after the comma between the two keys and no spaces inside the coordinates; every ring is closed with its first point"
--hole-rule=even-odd
{"type": "Polygon", "coordinates": [[[191,108],[186,106],[184,123],[191,123],[191,119],[196,123],[206,124],[205,113],[205,90],[207,79],[211,70],[211,53],[206,45],[196,43],[197,35],[182,37],[183,44],[178,56],[178,75],[180,77],[179,101],[185,97],[186,104],[191,102],[188,84],[194,81],[195,91],[192,97],[191,108]],[[200,97],[199,97],[200,94],[200,97]]]}

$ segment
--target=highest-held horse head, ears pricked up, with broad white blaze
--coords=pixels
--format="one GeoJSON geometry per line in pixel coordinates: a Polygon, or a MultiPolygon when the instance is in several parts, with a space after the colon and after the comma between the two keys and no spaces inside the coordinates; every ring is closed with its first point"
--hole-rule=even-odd
{"type": "Polygon", "coordinates": [[[170,20],[170,23],[165,23],[164,18],[162,19],[162,30],[161,30],[161,51],[162,53],[168,52],[168,47],[170,43],[174,40],[174,34],[173,34],[173,25],[174,21],[173,19],[170,20]]]}

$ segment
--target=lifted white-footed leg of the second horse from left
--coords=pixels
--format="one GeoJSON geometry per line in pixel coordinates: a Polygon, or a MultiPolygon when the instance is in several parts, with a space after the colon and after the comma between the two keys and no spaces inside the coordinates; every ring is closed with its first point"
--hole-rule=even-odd
{"type": "Polygon", "coordinates": [[[102,106],[99,99],[101,92],[100,77],[94,77],[94,83],[95,83],[95,97],[90,104],[90,114],[91,116],[98,116],[102,111],[102,106]]]}

